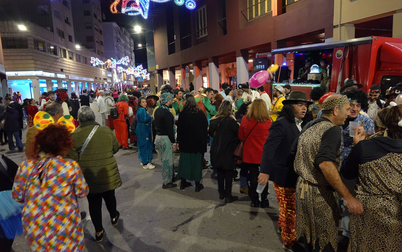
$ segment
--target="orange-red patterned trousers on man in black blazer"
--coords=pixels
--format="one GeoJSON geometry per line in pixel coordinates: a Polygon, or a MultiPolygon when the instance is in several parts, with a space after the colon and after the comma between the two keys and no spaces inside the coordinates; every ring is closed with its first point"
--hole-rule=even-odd
{"type": "Polygon", "coordinates": [[[279,206],[278,226],[282,229],[282,239],[285,246],[291,246],[296,239],[296,202],[295,188],[282,187],[273,183],[279,206]]]}

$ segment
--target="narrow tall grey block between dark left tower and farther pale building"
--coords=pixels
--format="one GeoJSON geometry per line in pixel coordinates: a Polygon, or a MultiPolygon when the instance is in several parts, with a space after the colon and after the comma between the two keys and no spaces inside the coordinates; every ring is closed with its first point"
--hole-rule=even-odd
{"type": "Polygon", "coordinates": [[[74,1],[72,4],[76,43],[105,57],[102,11],[99,0],[74,1]]]}

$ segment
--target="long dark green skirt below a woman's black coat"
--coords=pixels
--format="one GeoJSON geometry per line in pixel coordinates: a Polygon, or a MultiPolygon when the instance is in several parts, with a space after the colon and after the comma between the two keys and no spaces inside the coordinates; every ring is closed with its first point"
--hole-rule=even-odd
{"type": "Polygon", "coordinates": [[[178,161],[179,178],[199,182],[202,179],[202,154],[201,153],[180,153],[178,161]]]}

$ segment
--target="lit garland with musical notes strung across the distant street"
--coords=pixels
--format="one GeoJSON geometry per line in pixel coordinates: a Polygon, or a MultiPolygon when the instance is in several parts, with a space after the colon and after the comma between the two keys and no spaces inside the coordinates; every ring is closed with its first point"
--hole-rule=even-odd
{"type": "Polygon", "coordinates": [[[150,80],[150,73],[147,72],[146,69],[142,67],[142,65],[139,66],[128,66],[130,63],[130,59],[128,56],[125,56],[119,61],[116,61],[116,59],[110,58],[107,59],[105,62],[101,61],[98,58],[91,57],[91,64],[92,66],[98,66],[98,65],[105,65],[107,64],[107,68],[116,68],[117,72],[119,73],[126,73],[126,74],[131,74],[134,77],[144,77],[146,80],[150,80]],[[117,65],[123,65],[123,66],[117,66],[117,65]]]}

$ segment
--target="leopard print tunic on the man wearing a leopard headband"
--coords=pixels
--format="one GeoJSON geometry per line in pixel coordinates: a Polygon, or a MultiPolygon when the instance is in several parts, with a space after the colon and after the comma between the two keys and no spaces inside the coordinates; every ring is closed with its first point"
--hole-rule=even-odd
{"type": "MultiPolygon", "coordinates": [[[[299,174],[296,184],[296,234],[306,236],[314,246],[319,239],[320,249],[328,243],[336,251],[338,239],[338,194],[324,177],[315,159],[322,135],[337,127],[330,121],[316,123],[299,137],[294,162],[299,174]]],[[[339,136],[342,137],[340,130],[339,136]]],[[[336,153],[335,167],[340,170],[340,148],[336,153]]]]}

